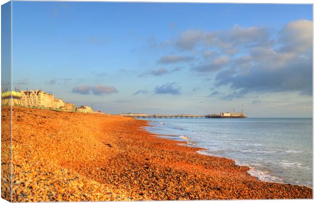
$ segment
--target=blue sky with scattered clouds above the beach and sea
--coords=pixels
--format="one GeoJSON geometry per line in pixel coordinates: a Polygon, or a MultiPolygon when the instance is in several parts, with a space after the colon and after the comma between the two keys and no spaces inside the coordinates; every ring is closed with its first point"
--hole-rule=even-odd
{"type": "Polygon", "coordinates": [[[107,113],[312,116],[312,5],[13,2],[13,87],[107,113]]]}

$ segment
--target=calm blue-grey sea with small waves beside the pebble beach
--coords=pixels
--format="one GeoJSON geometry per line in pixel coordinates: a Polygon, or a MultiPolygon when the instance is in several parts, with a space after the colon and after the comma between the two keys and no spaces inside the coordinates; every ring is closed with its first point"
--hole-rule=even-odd
{"type": "Polygon", "coordinates": [[[267,182],[312,188],[311,118],[150,118],[146,129],[163,138],[207,150],[198,153],[233,159],[267,182]]]}

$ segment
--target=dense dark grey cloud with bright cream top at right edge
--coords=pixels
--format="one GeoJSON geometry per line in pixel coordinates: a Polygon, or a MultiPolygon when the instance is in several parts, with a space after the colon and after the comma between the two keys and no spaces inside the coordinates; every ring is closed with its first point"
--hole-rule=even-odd
{"type": "Polygon", "coordinates": [[[288,23],[276,44],[249,48],[247,57],[236,58],[234,66],[217,74],[216,86],[229,85],[234,98],[250,92],[296,91],[311,95],[312,22],[288,23]]]}

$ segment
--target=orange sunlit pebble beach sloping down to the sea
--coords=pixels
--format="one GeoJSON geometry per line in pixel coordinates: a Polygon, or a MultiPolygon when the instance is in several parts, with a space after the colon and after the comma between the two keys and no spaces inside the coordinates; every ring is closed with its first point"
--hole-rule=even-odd
{"type": "Polygon", "coordinates": [[[233,160],[157,138],[146,125],[14,107],[13,201],[312,198],[310,188],[259,181],[233,160]]]}

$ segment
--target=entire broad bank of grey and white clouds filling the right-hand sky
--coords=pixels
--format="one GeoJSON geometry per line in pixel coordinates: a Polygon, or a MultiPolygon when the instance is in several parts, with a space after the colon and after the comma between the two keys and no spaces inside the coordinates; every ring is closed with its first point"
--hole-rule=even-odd
{"type": "Polygon", "coordinates": [[[215,88],[229,87],[231,93],[221,99],[288,91],[312,95],[312,37],[312,21],[301,19],[274,34],[239,25],[226,31],[186,30],[173,46],[200,53],[191,70],[215,75],[215,81],[209,81],[215,88]]]}

